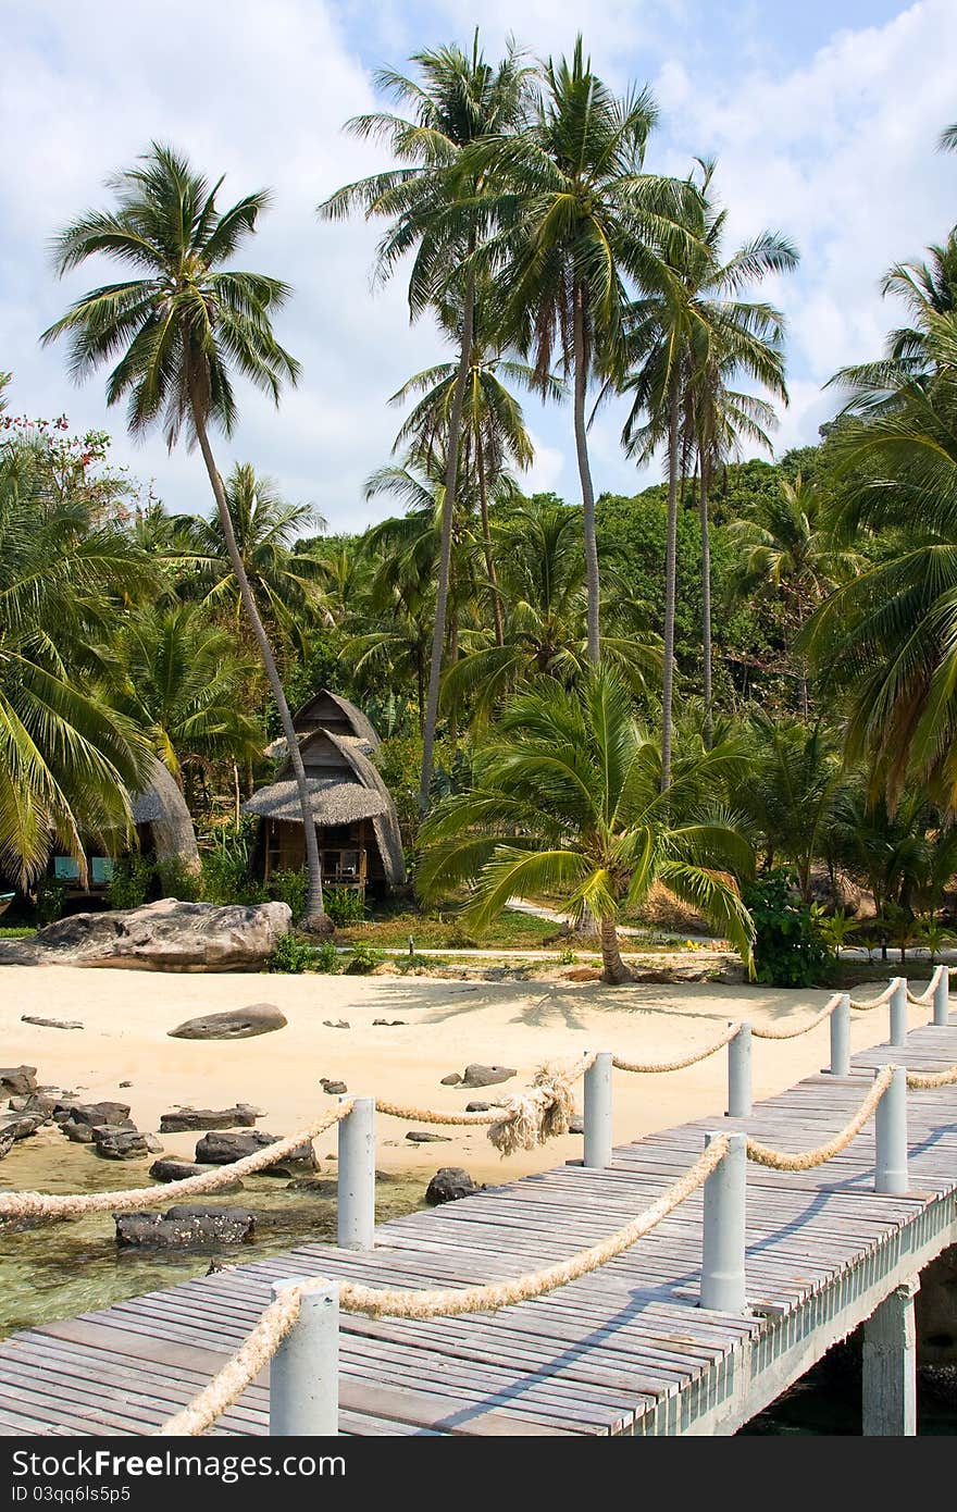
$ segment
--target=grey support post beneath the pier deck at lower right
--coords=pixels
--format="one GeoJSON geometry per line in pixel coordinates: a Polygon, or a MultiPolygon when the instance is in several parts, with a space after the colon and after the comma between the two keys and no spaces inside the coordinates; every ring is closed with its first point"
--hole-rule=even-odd
{"type": "Polygon", "coordinates": [[[865,1436],[918,1432],[918,1346],[913,1299],[919,1282],[895,1287],[863,1326],[865,1436]]]}

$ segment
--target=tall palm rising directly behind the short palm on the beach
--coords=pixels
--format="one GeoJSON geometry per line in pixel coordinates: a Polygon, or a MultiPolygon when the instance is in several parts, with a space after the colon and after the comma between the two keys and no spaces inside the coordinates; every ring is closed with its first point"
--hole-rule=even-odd
{"type": "Polygon", "coordinates": [[[573,381],[575,448],[582,488],[588,582],[588,658],[599,661],[599,555],[588,460],[587,393],[614,364],[629,280],[673,281],[661,246],[686,239],[688,183],[644,172],[656,119],[647,89],[617,98],[593,73],[578,38],[571,60],[543,65],[531,122],[469,156],[497,192],[499,278],[508,290],[503,336],[531,355],[540,387],[558,358],[573,381]]]}

